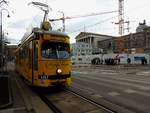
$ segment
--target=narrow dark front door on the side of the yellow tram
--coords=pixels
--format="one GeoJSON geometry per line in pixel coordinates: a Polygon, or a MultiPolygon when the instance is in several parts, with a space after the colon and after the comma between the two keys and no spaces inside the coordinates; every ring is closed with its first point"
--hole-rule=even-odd
{"type": "Polygon", "coordinates": [[[33,40],[33,56],[32,56],[32,84],[34,84],[35,76],[38,75],[38,41],[33,40]]]}

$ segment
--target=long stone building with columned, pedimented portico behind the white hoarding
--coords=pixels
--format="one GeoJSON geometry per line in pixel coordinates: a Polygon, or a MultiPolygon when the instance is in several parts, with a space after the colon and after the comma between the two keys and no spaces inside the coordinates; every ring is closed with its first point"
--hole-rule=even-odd
{"type": "Polygon", "coordinates": [[[76,42],[86,42],[92,49],[103,49],[103,53],[150,53],[150,27],[137,29],[121,37],[81,32],[76,42]]]}

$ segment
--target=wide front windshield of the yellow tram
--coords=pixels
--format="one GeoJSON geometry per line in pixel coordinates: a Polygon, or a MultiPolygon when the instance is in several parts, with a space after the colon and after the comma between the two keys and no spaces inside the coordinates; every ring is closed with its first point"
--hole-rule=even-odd
{"type": "Polygon", "coordinates": [[[69,44],[62,42],[44,41],[41,51],[43,58],[66,59],[70,56],[69,44]]]}

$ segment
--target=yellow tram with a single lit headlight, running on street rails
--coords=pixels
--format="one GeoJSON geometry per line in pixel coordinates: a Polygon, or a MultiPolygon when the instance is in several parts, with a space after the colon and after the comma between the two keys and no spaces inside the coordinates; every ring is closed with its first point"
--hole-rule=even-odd
{"type": "Polygon", "coordinates": [[[69,36],[50,30],[47,21],[42,28],[34,28],[16,50],[16,71],[33,86],[70,85],[69,36]]]}

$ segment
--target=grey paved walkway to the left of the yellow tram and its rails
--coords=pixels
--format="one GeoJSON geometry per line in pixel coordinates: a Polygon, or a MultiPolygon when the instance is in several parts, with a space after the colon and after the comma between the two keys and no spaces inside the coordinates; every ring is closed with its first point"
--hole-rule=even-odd
{"type": "Polygon", "coordinates": [[[15,64],[7,63],[8,75],[0,73],[0,113],[53,113],[15,72],[15,64]],[[2,76],[2,78],[1,78],[2,76]],[[7,76],[7,78],[6,78],[7,76]],[[10,84],[9,84],[10,79],[10,84]],[[9,86],[12,98],[9,98],[9,86]],[[9,100],[12,99],[12,106],[9,100]],[[10,103],[10,104],[9,104],[10,103]],[[4,107],[6,106],[6,108],[4,107]]]}

